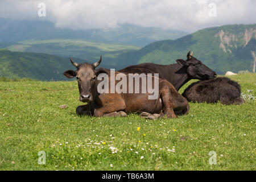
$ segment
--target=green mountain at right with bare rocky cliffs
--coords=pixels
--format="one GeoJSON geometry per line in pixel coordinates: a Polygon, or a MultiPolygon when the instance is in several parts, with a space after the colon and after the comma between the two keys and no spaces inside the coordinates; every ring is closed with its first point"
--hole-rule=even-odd
{"type": "Polygon", "coordinates": [[[105,64],[117,69],[139,63],[173,64],[176,59],[185,59],[189,50],[220,74],[246,69],[252,72],[256,60],[256,24],[205,28],[176,40],[148,44],[114,59],[107,57],[105,64]]]}

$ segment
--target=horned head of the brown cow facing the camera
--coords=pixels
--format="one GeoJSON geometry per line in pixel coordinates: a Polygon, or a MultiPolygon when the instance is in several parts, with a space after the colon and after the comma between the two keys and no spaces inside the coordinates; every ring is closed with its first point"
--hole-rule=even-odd
{"type": "Polygon", "coordinates": [[[75,63],[72,60],[72,58],[70,58],[70,60],[71,60],[71,63],[74,65],[74,67],[77,68],[77,70],[65,71],[63,75],[67,78],[76,77],[79,85],[80,101],[82,102],[93,101],[92,87],[93,87],[93,84],[95,84],[96,77],[98,75],[98,72],[95,70],[95,68],[98,65],[100,65],[101,57],[100,57],[100,60],[98,60],[96,63],[93,63],[93,64],[89,64],[89,63],[78,64],[78,63],[75,63]]]}

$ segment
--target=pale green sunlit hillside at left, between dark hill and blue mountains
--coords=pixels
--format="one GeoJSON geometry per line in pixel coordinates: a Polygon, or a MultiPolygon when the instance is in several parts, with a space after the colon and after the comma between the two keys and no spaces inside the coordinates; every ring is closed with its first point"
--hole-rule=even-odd
{"type": "Polygon", "coordinates": [[[9,51],[40,52],[62,57],[79,57],[80,59],[92,60],[99,55],[113,57],[127,51],[134,51],[140,47],[92,42],[81,39],[47,39],[47,40],[24,40],[21,42],[2,42],[0,48],[9,51]],[[109,53],[111,55],[109,55],[109,53]]]}

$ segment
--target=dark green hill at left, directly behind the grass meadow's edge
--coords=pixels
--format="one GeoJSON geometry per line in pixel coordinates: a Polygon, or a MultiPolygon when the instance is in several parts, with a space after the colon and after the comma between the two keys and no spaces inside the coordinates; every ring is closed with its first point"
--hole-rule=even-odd
{"type": "MultiPolygon", "coordinates": [[[[84,62],[84,60],[75,57],[73,59],[79,63],[84,62]]],[[[102,66],[106,65],[102,64],[102,66]]],[[[11,52],[0,49],[0,77],[26,77],[44,81],[68,80],[62,74],[67,69],[75,69],[68,57],[45,53],[11,52]]]]}

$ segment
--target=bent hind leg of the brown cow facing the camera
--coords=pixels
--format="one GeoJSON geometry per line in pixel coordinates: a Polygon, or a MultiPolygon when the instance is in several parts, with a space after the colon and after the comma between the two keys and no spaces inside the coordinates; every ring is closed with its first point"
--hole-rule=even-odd
{"type": "Polygon", "coordinates": [[[163,100],[163,110],[167,118],[177,118],[174,113],[174,100],[169,85],[163,85],[160,89],[160,97],[163,100]]]}

